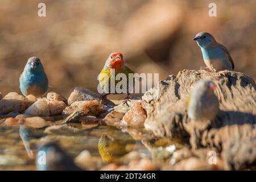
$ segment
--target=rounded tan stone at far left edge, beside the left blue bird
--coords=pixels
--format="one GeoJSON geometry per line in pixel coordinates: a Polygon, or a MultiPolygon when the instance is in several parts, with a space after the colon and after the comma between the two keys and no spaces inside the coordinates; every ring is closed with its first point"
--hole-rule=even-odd
{"type": "Polygon", "coordinates": [[[23,112],[26,110],[25,97],[16,92],[10,92],[0,100],[0,114],[7,114],[11,111],[23,112]]]}

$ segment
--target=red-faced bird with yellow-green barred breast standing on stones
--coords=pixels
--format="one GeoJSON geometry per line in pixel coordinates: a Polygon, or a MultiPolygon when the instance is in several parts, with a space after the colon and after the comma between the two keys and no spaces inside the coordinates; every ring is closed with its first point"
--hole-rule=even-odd
{"type": "Polygon", "coordinates": [[[129,101],[129,94],[131,92],[131,89],[133,89],[129,88],[129,83],[131,84],[131,82],[134,82],[134,78],[129,79],[129,73],[134,73],[134,71],[126,67],[126,65],[124,64],[122,53],[111,53],[106,60],[106,63],[101,70],[100,75],[98,76],[101,88],[105,91],[105,93],[101,95],[101,101],[108,94],[122,94],[122,90],[126,90],[127,97],[125,98],[123,104],[127,105],[127,101],[129,101]],[[123,80],[122,78],[118,80],[118,73],[123,73],[126,76],[126,80],[123,80]],[[111,80],[114,80],[113,84],[111,84],[111,80]],[[117,90],[116,86],[120,86],[118,88],[120,88],[121,90],[117,90]]]}

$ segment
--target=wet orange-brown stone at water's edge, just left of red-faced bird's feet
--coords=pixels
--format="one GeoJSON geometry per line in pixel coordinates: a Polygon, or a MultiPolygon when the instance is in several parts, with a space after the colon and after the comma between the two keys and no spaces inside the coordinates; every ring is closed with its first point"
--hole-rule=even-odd
{"type": "Polygon", "coordinates": [[[101,113],[99,102],[94,101],[76,101],[71,104],[71,106],[66,107],[62,114],[70,115],[74,111],[83,111],[84,115],[98,115],[101,113]]]}

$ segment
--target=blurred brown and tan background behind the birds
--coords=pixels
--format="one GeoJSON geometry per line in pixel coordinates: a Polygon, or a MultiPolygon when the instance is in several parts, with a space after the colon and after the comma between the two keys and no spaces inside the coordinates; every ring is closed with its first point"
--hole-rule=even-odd
{"type": "Polygon", "coordinates": [[[38,56],[50,90],[68,97],[76,86],[97,91],[111,52],[137,73],[159,78],[205,67],[193,37],[214,35],[229,49],[236,71],[256,78],[255,0],[0,0],[0,92],[19,91],[26,61],[38,56]],[[46,3],[46,17],[38,3],[46,3]],[[209,17],[209,3],[217,17],[209,17]]]}

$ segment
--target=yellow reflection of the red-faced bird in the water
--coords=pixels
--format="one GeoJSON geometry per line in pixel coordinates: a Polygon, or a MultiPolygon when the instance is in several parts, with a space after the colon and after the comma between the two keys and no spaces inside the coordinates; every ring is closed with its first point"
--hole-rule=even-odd
{"type": "Polygon", "coordinates": [[[105,131],[98,141],[98,152],[106,163],[122,163],[122,156],[134,149],[135,140],[116,129],[105,131]]]}

